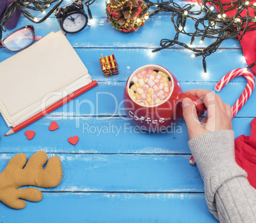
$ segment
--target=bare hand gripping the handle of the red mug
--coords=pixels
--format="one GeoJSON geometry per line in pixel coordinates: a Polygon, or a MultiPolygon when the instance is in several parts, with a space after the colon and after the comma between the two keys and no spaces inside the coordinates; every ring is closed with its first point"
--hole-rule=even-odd
{"type": "Polygon", "coordinates": [[[183,117],[187,125],[189,139],[217,130],[232,130],[231,106],[224,104],[220,96],[215,95],[213,91],[203,89],[189,90],[184,93],[200,98],[207,109],[206,118],[200,122],[192,100],[190,98],[182,100],[183,117]]]}

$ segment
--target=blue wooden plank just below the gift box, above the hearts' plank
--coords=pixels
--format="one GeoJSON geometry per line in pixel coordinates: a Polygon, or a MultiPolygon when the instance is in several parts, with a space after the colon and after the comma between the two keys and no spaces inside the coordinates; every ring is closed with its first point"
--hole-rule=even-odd
{"type": "MultiPolygon", "coordinates": [[[[111,80],[111,79],[109,79],[111,80]]],[[[181,82],[184,91],[191,89],[213,90],[214,82],[181,82]]],[[[233,105],[245,89],[245,82],[229,83],[218,93],[222,100],[233,105]],[[231,93],[232,92],[232,93],[231,93]]],[[[71,100],[59,109],[50,113],[50,116],[125,116],[123,107],[123,93],[125,83],[120,81],[99,82],[99,85],[83,95],[71,100]]],[[[253,92],[245,106],[236,117],[255,117],[256,93],[253,92]]]]}

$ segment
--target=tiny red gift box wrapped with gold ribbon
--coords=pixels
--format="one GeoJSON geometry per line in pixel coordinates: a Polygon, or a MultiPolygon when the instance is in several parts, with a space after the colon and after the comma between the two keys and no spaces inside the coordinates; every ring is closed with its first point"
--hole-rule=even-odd
{"type": "Polygon", "coordinates": [[[101,62],[101,69],[106,78],[113,74],[118,74],[117,61],[115,60],[115,56],[112,54],[107,57],[99,58],[99,62],[101,62]]]}

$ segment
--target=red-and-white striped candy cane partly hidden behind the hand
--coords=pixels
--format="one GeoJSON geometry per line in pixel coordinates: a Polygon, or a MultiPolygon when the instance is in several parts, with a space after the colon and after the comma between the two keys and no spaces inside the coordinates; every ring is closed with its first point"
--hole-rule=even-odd
{"type": "MultiPolygon", "coordinates": [[[[236,116],[236,114],[240,111],[240,109],[245,105],[247,102],[248,98],[252,95],[252,91],[254,90],[255,86],[255,79],[253,74],[248,71],[247,69],[239,68],[239,69],[234,69],[231,72],[228,72],[218,83],[215,85],[215,91],[219,92],[224,88],[224,86],[229,83],[232,79],[238,77],[238,76],[244,76],[247,80],[247,84],[245,87],[245,90],[241,94],[241,96],[238,98],[236,103],[232,106],[232,118],[236,116]]],[[[196,162],[194,160],[194,157],[191,156],[189,163],[191,165],[196,165],[196,162]]]]}

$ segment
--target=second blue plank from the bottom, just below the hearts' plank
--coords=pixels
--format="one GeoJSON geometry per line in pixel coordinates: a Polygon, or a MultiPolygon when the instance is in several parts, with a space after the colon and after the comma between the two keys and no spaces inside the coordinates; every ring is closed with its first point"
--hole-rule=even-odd
{"type": "MultiPolygon", "coordinates": [[[[22,151],[24,152],[24,151],[22,151]]],[[[0,154],[0,172],[15,154],[0,154]]],[[[26,154],[29,158],[31,153],[26,154]]],[[[48,154],[48,158],[53,154],[48,154]]],[[[203,180],[190,155],[55,154],[63,177],[41,191],[203,192],[203,180]]]]}

